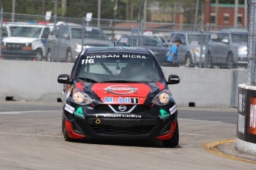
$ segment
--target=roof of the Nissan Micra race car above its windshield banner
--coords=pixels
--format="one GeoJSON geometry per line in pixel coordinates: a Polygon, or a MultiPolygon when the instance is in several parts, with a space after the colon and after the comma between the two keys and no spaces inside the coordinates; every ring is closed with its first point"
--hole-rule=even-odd
{"type": "Polygon", "coordinates": [[[82,51],[83,54],[100,53],[100,52],[128,52],[128,53],[142,53],[150,54],[149,50],[142,47],[90,47],[82,51]]]}

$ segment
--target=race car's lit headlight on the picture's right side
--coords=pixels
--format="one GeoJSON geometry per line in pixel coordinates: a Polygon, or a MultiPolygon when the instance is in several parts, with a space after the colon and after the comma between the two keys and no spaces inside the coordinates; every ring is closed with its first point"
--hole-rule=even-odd
{"type": "Polygon", "coordinates": [[[171,93],[168,89],[163,89],[152,100],[152,103],[163,106],[171,101],[171,93]]]}

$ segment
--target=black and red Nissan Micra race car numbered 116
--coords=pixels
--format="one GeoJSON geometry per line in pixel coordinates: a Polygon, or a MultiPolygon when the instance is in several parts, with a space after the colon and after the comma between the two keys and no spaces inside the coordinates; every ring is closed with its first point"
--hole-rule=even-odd
{"type": "Polygon", "coordinates": [[[179,143],[177,106],[151,50],[140,47],[91,47],[79,54],[70,75],[58,77],[62,92],[65,140],[162,140],[179,143]]]}

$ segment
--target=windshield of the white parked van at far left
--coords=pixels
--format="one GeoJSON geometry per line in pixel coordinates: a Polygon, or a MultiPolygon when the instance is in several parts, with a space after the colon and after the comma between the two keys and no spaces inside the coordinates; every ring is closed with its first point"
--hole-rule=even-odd
{"type": "Polygon", "coordinates": [[[10,30],[13,30],[11,35],[15,37],[39,38],[40,33],[42,32],[42,27],[15,27],[10,28],[10,30]]]}

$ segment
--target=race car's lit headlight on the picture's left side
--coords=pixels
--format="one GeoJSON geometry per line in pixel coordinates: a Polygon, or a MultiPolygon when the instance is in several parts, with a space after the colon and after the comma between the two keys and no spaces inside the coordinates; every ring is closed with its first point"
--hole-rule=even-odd
{"type": "Polygon", "coordinates": [[[73,89],[72,101],[79,104],[89,104],[93,99],[79,89],[73,89]]]}

